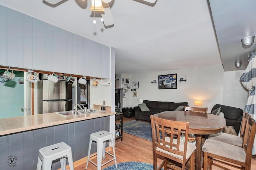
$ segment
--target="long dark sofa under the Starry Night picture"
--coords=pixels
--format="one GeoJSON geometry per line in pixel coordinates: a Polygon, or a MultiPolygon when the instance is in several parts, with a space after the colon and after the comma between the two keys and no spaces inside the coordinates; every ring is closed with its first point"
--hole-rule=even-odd
{"type": "Polygon", "coordinates": [[[179,106],[188,106],[188,102],[175,103],[144,100],[143,103],[146,104],[150,111],[141,111],[139,106],[134,107],[136,120],[141,119],[150,121],[150,115],[154,115],[162,111],[175,110],[179,106]]]}

